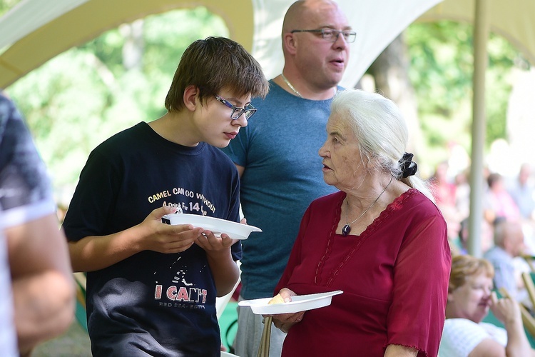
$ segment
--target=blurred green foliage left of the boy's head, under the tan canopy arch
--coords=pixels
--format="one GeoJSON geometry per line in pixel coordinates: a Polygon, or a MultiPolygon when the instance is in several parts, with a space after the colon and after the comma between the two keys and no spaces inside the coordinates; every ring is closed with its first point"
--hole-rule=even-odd
{"type": "Polygon", "coordinates": [[[131,24],[66,51],[6,89],[26,117],[58,196],[67,187],[66,203],[92,149],[165,113],[165,95],[185,48],[206,36],[228,36],[224,22],[204,7],[148,16],[138,42],[141,66],[128,69],[125,26],[131,24]]]}

